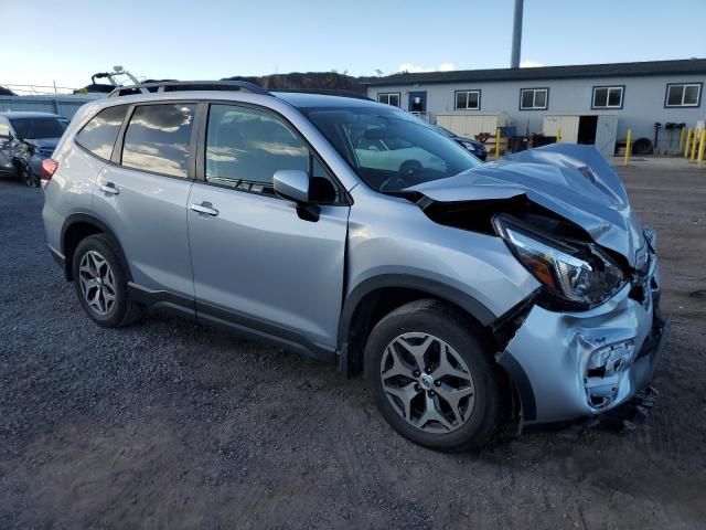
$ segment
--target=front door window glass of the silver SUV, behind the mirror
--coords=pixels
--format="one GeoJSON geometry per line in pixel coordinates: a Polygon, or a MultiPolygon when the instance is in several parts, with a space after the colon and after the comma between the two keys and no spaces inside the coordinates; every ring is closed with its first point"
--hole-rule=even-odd
{"type": "Polygon", "coordinates": [[[280,169],[309,170],[309,148],[280,119],[260,110],[212,105],[206,181],[242,191],[271,192],[280,169]]]}

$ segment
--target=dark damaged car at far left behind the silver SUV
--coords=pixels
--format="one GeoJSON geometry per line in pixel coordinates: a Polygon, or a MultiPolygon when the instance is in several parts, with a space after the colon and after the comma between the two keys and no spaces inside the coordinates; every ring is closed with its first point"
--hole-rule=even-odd
{"type": "Polygon", "coordinates": [[[52,157],[68,123],[50,113],[0,113],[0,171],[38,187],[42,160],[52,157]]]}

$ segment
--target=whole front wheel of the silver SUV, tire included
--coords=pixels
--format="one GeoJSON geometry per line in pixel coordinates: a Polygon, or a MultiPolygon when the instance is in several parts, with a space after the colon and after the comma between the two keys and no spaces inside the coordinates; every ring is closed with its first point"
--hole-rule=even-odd
{"type": "Polygon", "coordinates": [[[416,444],[478,449],[500,426],[502,383],[492,350],[474,322],[439,300],[411,301],[384,317],[367,339],[365,371],[382,415],[416,444]]]}

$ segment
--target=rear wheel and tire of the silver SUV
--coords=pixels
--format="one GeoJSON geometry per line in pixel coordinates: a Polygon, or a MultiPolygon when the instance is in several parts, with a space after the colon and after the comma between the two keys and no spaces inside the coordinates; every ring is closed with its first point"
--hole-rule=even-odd
{"type": "Polygon", "coordinates": [[[109,237],[95,234],[78,243],[72,262],[78,301],[105,328],[128,326],[145,312],[142,306],[129,298],[127,266],[118,256],[109,237]]]}

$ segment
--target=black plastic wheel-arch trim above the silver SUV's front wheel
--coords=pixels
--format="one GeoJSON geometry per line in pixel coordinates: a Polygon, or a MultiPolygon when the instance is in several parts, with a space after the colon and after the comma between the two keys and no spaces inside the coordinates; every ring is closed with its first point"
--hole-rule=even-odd
{"type": "Polygon", "coordinates": [[[356,285],[343,303],[336,341],[336,351],[340,357],[339,369],[349,371],[349,335],[355,309],[365,296],[386,287],[415,289],[448,300],[464,309],[484,327],[498,319],[496,315],[471,295],[441,282],[408,274],[373,276],[356,285]]]}

